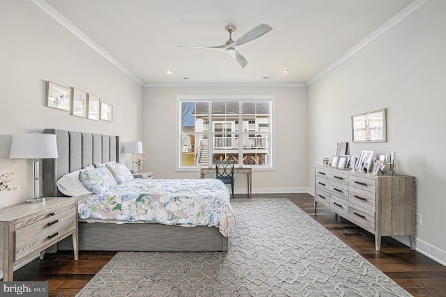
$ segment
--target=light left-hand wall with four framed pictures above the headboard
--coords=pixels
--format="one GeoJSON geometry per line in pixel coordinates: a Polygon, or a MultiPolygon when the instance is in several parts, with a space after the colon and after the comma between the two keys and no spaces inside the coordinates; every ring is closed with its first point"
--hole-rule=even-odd
{"type": "MultiPolygon", "coordinates": [[[[12,170],[14,184],[20,186],[17,191],[0,192],[1,207],[33,195],[32,161],[8,159],[12,134],[70,129],[118,135],[121,146],[141,139],[139,84],[31,1],[1,1],[0,28],[0,175],[12,170]],[[113,122],[77,118],[46,107],[45,81],[99,96],[113,105],[113,122]]],[[[121,154],[121,160],[126,158],[130,160],[121,154]]]]}

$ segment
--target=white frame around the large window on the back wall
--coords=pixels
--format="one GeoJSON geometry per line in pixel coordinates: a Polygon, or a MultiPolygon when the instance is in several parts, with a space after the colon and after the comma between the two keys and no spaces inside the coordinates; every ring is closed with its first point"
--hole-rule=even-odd
{"type": "MultiPolygon", "coordinates": [[[[175,163],[176,163],[176,171],[199,171],[201,166],[186,166],[183,167],[180,164],[181,160],[181,147],[180,147],[180,134],[181,134],[181,123],[180,123],[180,115],[181,115],[181,102],[199,102],[199,101],[261,101],[262,99],[268,99],[271,102],[270,109],[270,153],[269,153],[269,163],[267,166],[252,166],[253,170],[264,170],[271,171],[275,170],[275,96],[274,95],[178,95],[176,96],[176,141],[175,141],[175,163]]],[[[212,104],[210,104],[210,113],[212,113],[212,104]]],[[[240,114],[242,112],[240,111],[240,114]]],[[[208,122],[209,127],[213,127],[212,117],[209,118],[208,122]]],[[[239,126],[240,127],[240,126],[239,126]]],[[[233,127],[235,129],[235,127],[233,127]]],[[[240,127],[241,129],[241,127],[240,127]]],[[[236,131],[232,131],[231,133],[235,133],[236,131]]],[[[210,135],[215,134],[213,131],[208,131],[210,135]]],[[[251,131],[252,133],[252,131],[251,131]]],[[[243,134],[249,134],[249,131],[238,131],[239,139],[242,139],[243,134]]],[[[211,138],[212,139],[212,138],[211,138]]],[[[243,146],[240,145],[240,151],[243,151],[243,146]]],[[[211,152],[210,152],[211,154],[211,152]]],[[[239,153],[240,154],[240,153],[239,153]]],[[[210,161],[212,162],[212,161],[210,161]]]]}

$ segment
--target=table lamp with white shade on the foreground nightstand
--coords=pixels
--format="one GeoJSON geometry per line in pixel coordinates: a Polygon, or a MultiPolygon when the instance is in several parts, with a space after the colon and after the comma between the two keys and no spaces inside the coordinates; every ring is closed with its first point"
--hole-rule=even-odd
{"type": "Polygon", "coordinates": [[[26,202],[45,201],[45,198],[40,197],[39,192],[39,159],[52,159],[57,156],[57,142],[54,134],[23,133],[13,135],[9,159],[34,159],[34,198],[28,199],[26,202]]]}

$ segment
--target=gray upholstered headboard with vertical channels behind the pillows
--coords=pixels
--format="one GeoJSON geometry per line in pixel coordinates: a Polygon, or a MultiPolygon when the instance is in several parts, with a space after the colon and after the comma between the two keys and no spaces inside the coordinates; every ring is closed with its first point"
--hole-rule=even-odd
{"type": "Polygon", "coordinates": [[[45,129],[56,135],[57,159],[43,159],[43,195],[65,196],[56,186],[63,175],[89,164],[119,162],[119,136],[45,129]]]}

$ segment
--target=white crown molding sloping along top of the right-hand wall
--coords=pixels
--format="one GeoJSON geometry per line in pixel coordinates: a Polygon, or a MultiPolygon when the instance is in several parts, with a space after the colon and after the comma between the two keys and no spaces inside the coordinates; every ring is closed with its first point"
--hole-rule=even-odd
{"type": "Polygon", "coordinates": [[[375,31],[373,31],[372,33],[370,33],[366,38],[364,38],[363,40],[361,40],[357,45],[355,45],[354,47],[352,47],[351,49],[349,49],[348,51],[346,51],[346,53],[342,56],[340,56],[339,58],[337,58],[336,61],[334,61],[333,63],[331,63],[330,65],[328,65],[328,67],[325,67],[324,70],[322,70],[321,72],[319,72],[318,74],[316,74],[314,77],[312,77],[312,79],[310,79],[309,81],[307,81],[307,86],[310,86],[312,83],[314,83],[314,81],[317,81],[318,79],[320,79],[321,77],[323,77],[325,74],[327,74],[328,72],[330,72],[331,70],[333,70],[335,67],[337,67],[339,64],[343,63],[344,61],[346,61],[348,58],[350,58],[351,56],[353,56],[353,54],[356,54],[357,51],[360,51],[360,49],[362,49],[363,47],[365,47],[366,45],[368,45],[371,41],[375,40],[376,38],[378,38],[381,34],[385,33],[385,31],[389,30],[390,28],[392,28],[394,25],[398,24],[399,22],[401,22],[403,19],[405,19],[406,17],[408,17],[408,15],[410,15],[411,13],[413,13],[415,10],[417,10],[418,8],[424,6],[424,4],[426,4],[427,2],[429,2],[430,0],[415,0],[412,3],[410,3],[408,6],[406,6],[406,8],[404,8],[403,10],[401,10],[399,13],[397,13],[396,15],[394,15],[394,17],[392,17],[391,19],[389,19],[387,22],[385,22],[382,26],[380,26],[378,29],[376,29],[375,31]]]}

